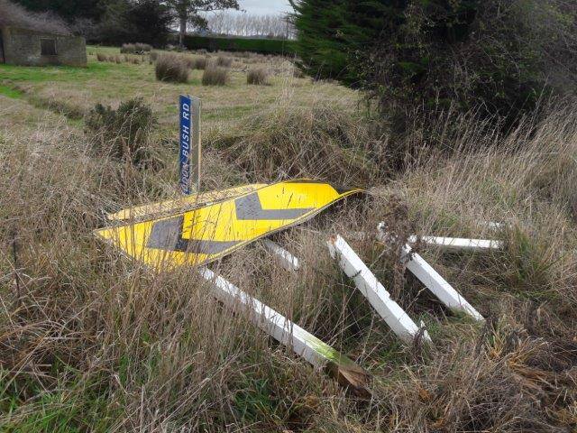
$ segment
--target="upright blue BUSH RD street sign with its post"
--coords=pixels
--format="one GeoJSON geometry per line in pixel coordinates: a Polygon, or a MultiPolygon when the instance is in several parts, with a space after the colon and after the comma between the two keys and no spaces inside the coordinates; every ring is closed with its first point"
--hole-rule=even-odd
{"type": "Polygon", "coordinates": [[[196,191],[200,191],[200,107],[199,98],[180,95],[179,189],[185,195],[191,193],[191,182],[194,182],[196,191]]]}

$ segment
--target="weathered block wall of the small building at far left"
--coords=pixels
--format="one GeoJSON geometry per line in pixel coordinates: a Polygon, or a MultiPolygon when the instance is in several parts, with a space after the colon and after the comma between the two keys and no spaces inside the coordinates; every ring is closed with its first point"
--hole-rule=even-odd
{"type": "Polygon", "coordinates": [[[87,66],[84,38],[3,27],[5,62],[23,66],[69,65],[87,66]],[[41,39],[53,39],[56,55],[41,55],[41,39]]]}

